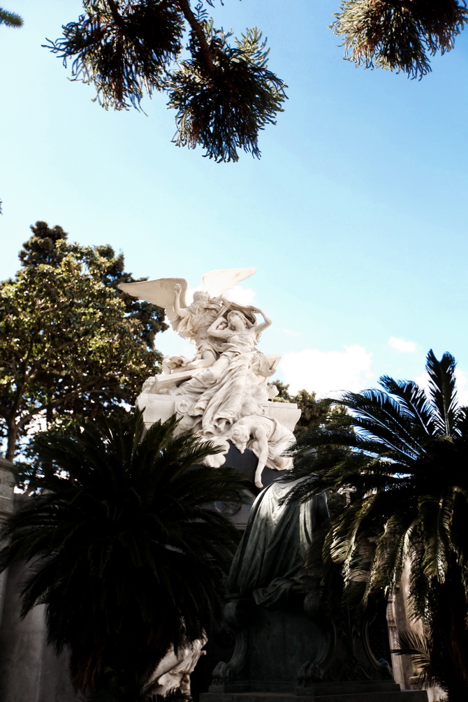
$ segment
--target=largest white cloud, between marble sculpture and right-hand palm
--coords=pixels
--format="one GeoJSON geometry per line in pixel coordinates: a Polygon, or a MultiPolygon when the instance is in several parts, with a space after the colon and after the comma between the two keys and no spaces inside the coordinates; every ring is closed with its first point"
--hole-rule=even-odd
{"type": "Polygon", "coordinates": [[[290,392],[305,388],[318,397],[337,397],[342,390],[359,392],[375,385],[372,354],[363,346],[344,346],[342,351],[304,349],[286,353],[279,369],[290,392]]]}

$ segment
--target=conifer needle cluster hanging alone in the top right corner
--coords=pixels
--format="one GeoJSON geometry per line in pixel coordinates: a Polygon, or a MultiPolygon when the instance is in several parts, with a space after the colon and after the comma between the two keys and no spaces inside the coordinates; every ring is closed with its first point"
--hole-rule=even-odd
{"type": "Polygon", "coordinates": [[[468,21],[464,0],[345,0],[332,28],[345,58],[422,78],[429,57],[446,53],[468,21]]]}

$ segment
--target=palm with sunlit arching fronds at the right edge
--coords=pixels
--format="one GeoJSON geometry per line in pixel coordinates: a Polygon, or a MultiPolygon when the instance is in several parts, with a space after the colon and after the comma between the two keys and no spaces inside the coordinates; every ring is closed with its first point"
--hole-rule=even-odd
{"type": "Polygon", "coordinates": [[[427,391],[384,376],[382,390],[346,393],[342,426],[316,430],[296,447],[295,477],[310,479],[295,497],[347,494],[321,557],[342,564],[348,592],[367,570],[364,602],[394,592],[409,560],[429,677],[459,702],[468,698],[468,408],[457,403],[450,354],[438,361],[429,351],[426,369],[427,391]]]}

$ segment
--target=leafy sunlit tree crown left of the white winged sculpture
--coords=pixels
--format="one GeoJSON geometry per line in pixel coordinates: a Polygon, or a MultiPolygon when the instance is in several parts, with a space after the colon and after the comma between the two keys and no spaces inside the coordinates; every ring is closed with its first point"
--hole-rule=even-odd
{"type": "Polygon", "coordinates": [[[159,369],[154,335],[166,329],[162,310],[117,289],[133,280],[123,255],[69,243],[44,222],[32,232],[20,271],[0,284],[0,437],[10,460],[41,420],[133,402],[159,369]]]}

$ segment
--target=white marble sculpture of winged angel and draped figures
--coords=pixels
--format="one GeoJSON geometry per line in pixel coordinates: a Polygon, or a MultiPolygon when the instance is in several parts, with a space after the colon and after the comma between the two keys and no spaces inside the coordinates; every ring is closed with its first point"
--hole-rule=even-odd
{"type": "Polygon", "coordinates": [[[225,297],[227,290],[253,273],[255,268],[210,271],[203,275],[191,303],[185,278],[126,283],[119,288],[163,307],[173,329],[195,346],[191,359],[182,355],[163,359],[163,373],[146,381],[140,406],[148,409],[151,404],[159,418],[166,418],[165,411],[175,411],[182,418],[179,430],[194,430],[221,446],[222,453],[207,459],[213,467],[225,462],[229,440],[241,452],[252,450],[258,457],[255,484],[262,487],[265,465],[276,470],[291,467],[283,452],[294,442],[292,429],[300,411],[288,406],[295,413],[290,415],[292,421],[285,422],[284,411],[282,418],[275,416],[279,403],[270,402],[277,390],[268,380],[279,356],[267,356],[257,345],[272,320],[258,307],[225,297]]]}

